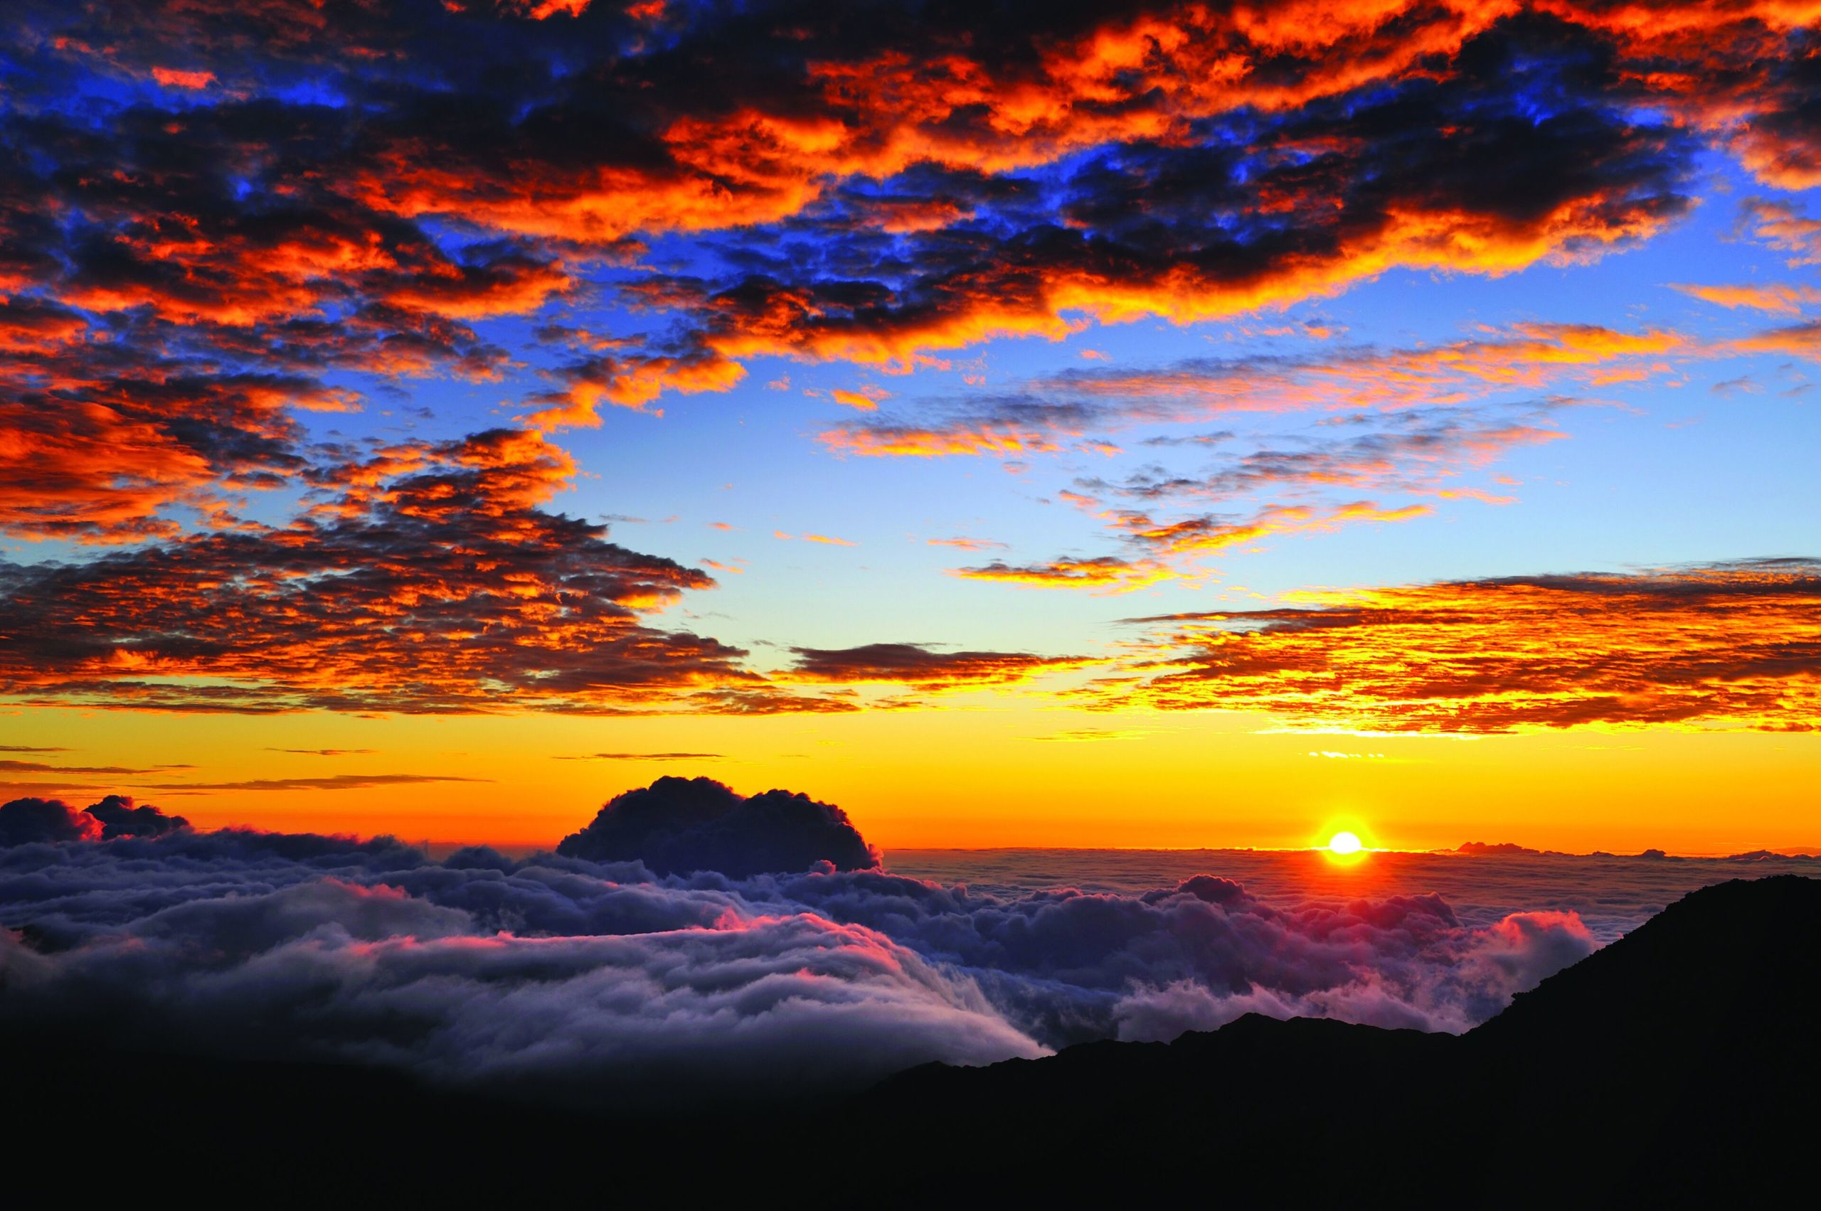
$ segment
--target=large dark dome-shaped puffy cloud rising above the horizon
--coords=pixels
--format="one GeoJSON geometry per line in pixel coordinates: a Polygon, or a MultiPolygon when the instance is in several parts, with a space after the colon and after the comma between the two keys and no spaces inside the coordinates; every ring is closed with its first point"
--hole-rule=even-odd
{"type": "Polygon", "coordinates": [[[719,870],[734,878],[767,870],[880,865],[832,803],[767,790],[741,796],[712,778],[659,778],[606,801],[581,832],[557,845],[568,858],[643,861],[659,874],[719,870]]]}

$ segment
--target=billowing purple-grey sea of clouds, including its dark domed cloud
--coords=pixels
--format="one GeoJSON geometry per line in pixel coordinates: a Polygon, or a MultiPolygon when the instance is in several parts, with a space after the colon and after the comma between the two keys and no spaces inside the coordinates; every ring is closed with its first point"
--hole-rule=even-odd
{"type": "Polygon", "coordinates": [[[1597,945],[1575,912],[1471,923],[1439,894],[1267,901],[1215,874],[982,892],[883,869],[839,809],[721,790],[663,779],[563,852],[441,861],[392,838],[197,832],[113,798],[7,803],[0,1027],[690,1104],[1244,1013],[1464,1031],[1597,945]],[[666,794],[694,796],[668,829],[666,794]],[[779,861],[850,869],[688,870],[690,836],[728,852],[752,829],[779,861]],[[626,858],[641,845],[665,872],[626,858]]]}

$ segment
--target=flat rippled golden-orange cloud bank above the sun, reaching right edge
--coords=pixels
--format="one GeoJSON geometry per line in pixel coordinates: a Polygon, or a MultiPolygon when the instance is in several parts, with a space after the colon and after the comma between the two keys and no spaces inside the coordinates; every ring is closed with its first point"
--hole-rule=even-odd
{"type": "Polygon", "coordinates": [[[1821,727],[1821,568],[1757,559],[1302,594],[1184,614],[1102,707],[1262,710],[1311,730],[1821,727]]]}

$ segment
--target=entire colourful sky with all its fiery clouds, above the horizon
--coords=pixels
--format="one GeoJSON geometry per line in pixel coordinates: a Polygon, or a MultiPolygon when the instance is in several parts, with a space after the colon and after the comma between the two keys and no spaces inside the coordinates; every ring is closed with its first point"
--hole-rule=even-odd
{"type": "Polygon", "coordinates": [[[0,799],[1821,847],[1821,2],[25,0],[0,799]]]}

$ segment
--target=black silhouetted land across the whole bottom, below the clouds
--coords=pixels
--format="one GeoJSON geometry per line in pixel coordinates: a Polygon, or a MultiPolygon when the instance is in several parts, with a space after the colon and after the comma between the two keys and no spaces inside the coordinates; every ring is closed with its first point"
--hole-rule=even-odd
{"type": "Polygon", "coordinates": [[[1816,1186],[1821,881],[1690,894],[1464,1036],[1247,1016],[626,1118],[7,1038],[9,1206],[1748,1206],[1816,1186]]]}

